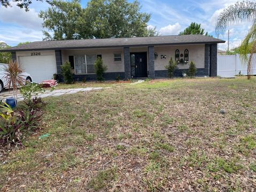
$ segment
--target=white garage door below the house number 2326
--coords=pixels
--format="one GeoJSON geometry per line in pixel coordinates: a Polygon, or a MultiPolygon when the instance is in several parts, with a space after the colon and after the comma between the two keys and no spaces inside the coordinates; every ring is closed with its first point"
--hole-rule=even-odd
{"type": "Polygon", "coordinates": [[[33,82],[52,79],[56,73],[55,55],[19,57],[21,67],[29,73],[33,82]]]}

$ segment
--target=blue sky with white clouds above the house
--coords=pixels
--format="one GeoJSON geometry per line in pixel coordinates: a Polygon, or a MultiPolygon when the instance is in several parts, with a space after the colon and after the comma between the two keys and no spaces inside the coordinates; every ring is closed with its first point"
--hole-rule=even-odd
{"type": "MultiPolygon", "coordinates": [[[[86,7],[88,0],[81,1],[86,7]]],[[[132,2],[129,0],[129,2],[132,2]]],[[[215,35],[215,21],[218,15],[237,0],[139,0],[141,11],[151,13],[148,27],[156,27],[160,35],[178,35],[191,22],[201,23],[202,28],[213,37],[215,35]]],[[[29,12],[13,4],[12,7],[0,5],[0,42],[15,46],[20,42],[42,41],[42,19],[38,18],[40,10],[50,7],[47,3],[33,1],[29,12]]],[[[249,21],[229,26],[230,48],[239,46],[246,35],[251,23],[249,21]]],[[[228,33],[219,36],[226,41],[219,44],[219,49],[227,50],[228,33]]]]}

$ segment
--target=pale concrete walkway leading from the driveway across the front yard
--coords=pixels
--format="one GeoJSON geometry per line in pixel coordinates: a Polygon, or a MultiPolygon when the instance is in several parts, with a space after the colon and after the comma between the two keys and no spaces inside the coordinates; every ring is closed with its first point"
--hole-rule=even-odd
{"type": "MultiPolygon", "coordinates": [[[[93,90],[102,90],[102,87],[86,87],[86,88],[77,88],[77,89],[62,89],[62,90],[47,90],[42,94],[39,94],[38,97],[45,98],[45,97],[57,97],[60,95],[65,94],[74,94],[77,92],[86,92],[86,91],[93,91],[93,90]]],[[[11,91],[12,92],[12,91],[11,91]]],[[[4,91],[0,95],[0,99],[5,100],[6,98],[13,97],[12,93],[9,93],[9,91],[4,91]]],[[[23,100],[22,94],[18,93],[18,101],[23,100]]]]}

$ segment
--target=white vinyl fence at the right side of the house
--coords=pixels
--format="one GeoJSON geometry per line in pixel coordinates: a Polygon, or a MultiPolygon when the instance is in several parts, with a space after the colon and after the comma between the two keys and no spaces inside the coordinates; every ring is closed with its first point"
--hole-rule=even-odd
{"type": "MultiPolygon", "coordinates": [[[[218,55],[217,75],[221,77],[235,76],[239,74],[247,75],[247,63],[242,62],[239,54],[218,55]]],[[[256,75],[256,53],[252,57],[252,74],[256,75]]]]}

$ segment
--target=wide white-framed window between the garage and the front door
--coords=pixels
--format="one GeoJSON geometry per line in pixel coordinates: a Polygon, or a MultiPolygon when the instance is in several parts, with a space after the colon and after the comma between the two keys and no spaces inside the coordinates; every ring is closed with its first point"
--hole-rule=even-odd
{"type": "Polygon", "coordinates": [[[75,55],[75,73],[92,74],[94,73],[94,63],[97,59],[96,54],[75,55]]]}

